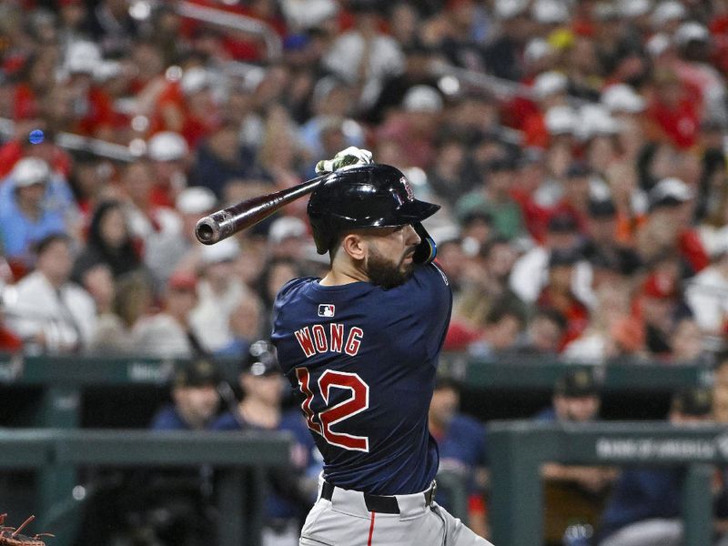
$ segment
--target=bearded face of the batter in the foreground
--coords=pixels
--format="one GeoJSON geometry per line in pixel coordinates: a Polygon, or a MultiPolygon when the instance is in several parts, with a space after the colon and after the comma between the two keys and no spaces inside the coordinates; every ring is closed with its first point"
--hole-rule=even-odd
{"type": "Polygon", "coordinates": [[[369,281],[382,288],[398,287],[412,276],[412,257],[420,236],[411,226],[388,227],[369,238],[366,268],[369,281]]]}

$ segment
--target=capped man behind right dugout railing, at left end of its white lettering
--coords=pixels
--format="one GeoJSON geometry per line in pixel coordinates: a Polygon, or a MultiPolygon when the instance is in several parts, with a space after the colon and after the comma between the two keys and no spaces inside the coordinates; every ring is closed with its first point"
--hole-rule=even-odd
{"type": "MultiPolygon", "coordinates": [[[[601,398],[590,369],[571,369],[556,380],[551,408],[541,410],[535,420],[558,423],[586,423],[599,419],[601,398]]],[[[602,511],[612,469],[571,466],[548,462],[541,467],[545,480],[546,540],[558,541],[574,521],[595,525],[602,511]]]]}

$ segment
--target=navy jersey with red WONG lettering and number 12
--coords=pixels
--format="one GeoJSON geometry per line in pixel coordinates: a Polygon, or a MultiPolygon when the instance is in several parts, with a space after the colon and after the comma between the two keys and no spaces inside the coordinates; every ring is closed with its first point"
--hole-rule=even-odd
{"type": "Polygon", "coordinates": [[[428,408],[452,296],[435,265],[403,285],[285,285],[272,341],[298,392],[324,477],[379,495],[426,490],[438,469],[428,408]]]}

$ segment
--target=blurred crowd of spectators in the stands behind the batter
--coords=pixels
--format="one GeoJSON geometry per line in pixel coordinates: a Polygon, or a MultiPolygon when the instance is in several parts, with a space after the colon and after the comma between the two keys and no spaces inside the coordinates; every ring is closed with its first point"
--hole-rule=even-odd
{"type": "Polygon", "coordinates": [[[726,29],[724,0],[6,1],[0,347],[245,349],[326,266],[306,199],[208,248],[197,219],[357,146],[442,205],[446,349],[710,361],[726,29]]]}

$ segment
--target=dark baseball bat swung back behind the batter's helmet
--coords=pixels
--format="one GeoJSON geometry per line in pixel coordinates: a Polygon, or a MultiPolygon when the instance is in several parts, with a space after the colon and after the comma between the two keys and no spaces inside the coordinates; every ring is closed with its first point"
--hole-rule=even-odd
{"type": "Polygon", "coordinates": [[[311,178],[293,187],[281,189],[280,191],[265,196],[252,197],[237,205],[223,208],[211,215],[201,218],[195,226],[195,236],[200,243],[214,245],[224,238],[255,226],[258,222],[291,201],[311,193],[319,182],[329,173],[319,177],[311,178]]]}

